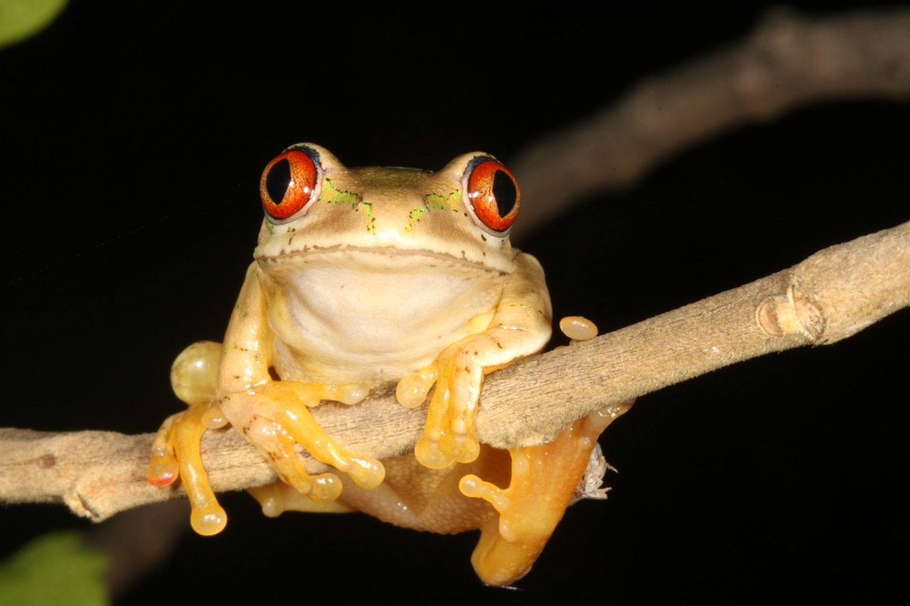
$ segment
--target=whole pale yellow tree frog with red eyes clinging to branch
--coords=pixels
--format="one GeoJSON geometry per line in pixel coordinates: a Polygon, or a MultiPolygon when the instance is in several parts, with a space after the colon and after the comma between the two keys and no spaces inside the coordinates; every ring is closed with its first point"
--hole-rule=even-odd
{"type": "Polygon", "coordinates": [[[535,446],[494,449],[474,436],[484,376],[551,338],[541,264],[511,246],[516,177],[483,152],[436,172],[349,168],[300,143],[268,163],[259,186],[265,218],[224,341],[177,358],[172,385],[188,408],[158,430],[147,480],[179,478],[193,529],[223,530],[199,441],[229,425],[278,474],[250,490],[267,515],[359,510],[417,530],[480,529],[481,580],[520,579],[615,415],[535,446]],[[429,399],[414,452],[400,457],[350,452],[309,412],[391,388],[402,406],[429,399]],[[330,470],[310,475],[298,445],[330,470]]]}

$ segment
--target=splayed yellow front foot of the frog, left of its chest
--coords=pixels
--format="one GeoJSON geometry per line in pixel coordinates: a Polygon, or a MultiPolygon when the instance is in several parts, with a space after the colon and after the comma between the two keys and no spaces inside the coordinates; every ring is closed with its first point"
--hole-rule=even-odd
{"type": "MultiPolygon", "coordinates": [[[[221,399],[221,406],[234,427],[272,461],[282,481],[309,499],[326,503],[338,498],[339,478],[334,473],[309,475],[298,457],[297,444],[316,460],[344,471],[364,488],[379,486],[385,476],[378,460],[357,457],[342,449],[309,414],[308,406],[315,406],[320,398],[340,399],[348,387],[270,381],[246,392],[227,394],[221,399]]],[[[354,390],[359,399],[366,395],[354,390]]]]}

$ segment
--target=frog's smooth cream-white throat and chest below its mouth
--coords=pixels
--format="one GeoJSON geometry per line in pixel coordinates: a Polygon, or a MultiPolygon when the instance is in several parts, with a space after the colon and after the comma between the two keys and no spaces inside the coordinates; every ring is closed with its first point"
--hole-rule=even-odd
{"type": "Polygon", "coordinates": [[[393,383],[482,332],[509,275],[440,255],[338,251],[270,268],[282,379],[393,383]],[[365,268],[369,268],[366,270],[365,268]]]}

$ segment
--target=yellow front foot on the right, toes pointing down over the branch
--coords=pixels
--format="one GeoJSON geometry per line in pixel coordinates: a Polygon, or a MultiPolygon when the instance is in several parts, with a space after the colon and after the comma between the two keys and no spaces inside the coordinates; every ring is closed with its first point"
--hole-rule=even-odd
{"type": "Polygon", "coordinates": [[[427,411],[427,424],[414,448],[417,460],[426,467],[441,470],[453,462],[470,463],[480,454],[474,438],[474,416],[480,387],[486,371],[479,352],[489,348],[484,336],[463,338],[442,350],[436,364],[418,375],[402,379],[396,393],[399,402],[413,405],[426,393],[433,380],[436,390],[427,411]]]}

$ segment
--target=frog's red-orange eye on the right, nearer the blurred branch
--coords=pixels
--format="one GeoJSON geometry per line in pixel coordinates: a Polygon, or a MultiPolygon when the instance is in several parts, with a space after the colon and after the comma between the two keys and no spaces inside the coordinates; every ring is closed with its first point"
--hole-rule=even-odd
{"type": "Polygon", "coordinates": [[[480,227],[495,236],[509,230],[521,208],[521,189],[511,170],[490,157],[478,157],[468,167],[467,194],[480,227]]]}

